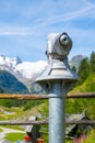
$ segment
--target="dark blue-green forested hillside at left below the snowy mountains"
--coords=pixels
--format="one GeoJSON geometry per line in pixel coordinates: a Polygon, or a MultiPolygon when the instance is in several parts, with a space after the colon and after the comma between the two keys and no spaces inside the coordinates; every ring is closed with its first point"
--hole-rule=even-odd
{"type": "Polygon", "coordinates": [[[27,88],[7,70],[0,70],[0,88],[7,94],[26,94],[27,88]]]}

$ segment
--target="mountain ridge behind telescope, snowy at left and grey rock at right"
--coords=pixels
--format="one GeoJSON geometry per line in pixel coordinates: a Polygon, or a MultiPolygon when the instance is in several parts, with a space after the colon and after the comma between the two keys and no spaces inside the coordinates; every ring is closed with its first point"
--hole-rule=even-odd
{"type": "MultiPolygon", "coordinates": [[[[70,66],[79,66],[80,62],[84,56],[75,55],[69,62],[70,66]]],[[[34,80],[38,77],[41,72],[47,66],[47,62],[38,61],[38,62],[22,62],[19,56],[16,57],[8,57],[4,55],[0,55],[0,69],[7,70],[13,76],[15,76],[21,82],[23,82],[28,90],[34,90],[34,80]]]]}

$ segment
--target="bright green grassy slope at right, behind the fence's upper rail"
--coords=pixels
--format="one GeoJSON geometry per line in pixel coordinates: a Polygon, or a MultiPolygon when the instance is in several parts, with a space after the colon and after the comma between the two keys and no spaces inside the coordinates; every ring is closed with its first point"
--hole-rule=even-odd
{"type": "MultiPolygon", "coordinates": [[[[81,86],[78,86],[71,92],[95,92],[95,75],[90,75],[81,86]]],[[[67,112],[74,113],[84,110],[87,111],[90,118],[95,119],[95,99],[67,100],[67,112]]]]}

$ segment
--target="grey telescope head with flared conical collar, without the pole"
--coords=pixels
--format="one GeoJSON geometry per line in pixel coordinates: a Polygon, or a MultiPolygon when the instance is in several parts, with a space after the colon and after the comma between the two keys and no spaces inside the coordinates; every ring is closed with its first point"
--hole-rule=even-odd
{"type": "Polygon", "coordinates": [[[66,32],[62,34],[48,35],[46,50],[48,65],[43,75],[36,79],[48,92],[50,91],[49,81],[51,80],[66,80],[66,82],[71,84],[79,79],[78,75],[70,69],[68,64],[68,55],[71,47],[72,40],[66,32]]]}

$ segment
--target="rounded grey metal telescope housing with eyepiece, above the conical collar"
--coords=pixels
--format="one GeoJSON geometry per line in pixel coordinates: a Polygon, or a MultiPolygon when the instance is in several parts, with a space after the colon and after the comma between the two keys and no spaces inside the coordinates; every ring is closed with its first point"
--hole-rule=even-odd
{"type": "Polygon", "coordinates": [[[49,59],[63,61],[72,47],[72,41],[64,32],[59,34],[49,34],[46,54],[49,59]]]}

